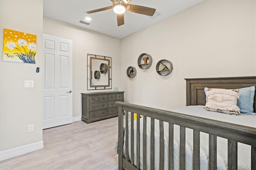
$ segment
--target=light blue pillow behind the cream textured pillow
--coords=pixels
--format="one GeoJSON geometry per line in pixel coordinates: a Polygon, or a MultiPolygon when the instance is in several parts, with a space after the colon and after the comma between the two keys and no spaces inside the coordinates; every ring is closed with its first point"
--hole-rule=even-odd
{"type": "MultiPolygon", "coordinates": [[[[204,88],[204,93],[208,91],[208,88],[204,88]]],[[[246,113],[249,115],[255,115],[253,113],[253,100],[255,94],[255,86],[244,87],[239,89],[240,99],[237,100],[237,106],[240,108],[241,113],[246,113]]],[[[206,103],[208,102],[208,97],[206,96],[206,103]]]]}

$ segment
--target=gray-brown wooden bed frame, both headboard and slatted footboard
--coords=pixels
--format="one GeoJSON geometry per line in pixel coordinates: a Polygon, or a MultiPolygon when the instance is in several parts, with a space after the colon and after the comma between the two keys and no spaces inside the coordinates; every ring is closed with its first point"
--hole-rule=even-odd
{"type": "MultiPolygon", "coordinates": [[[[186,104],[189,105],[205,105],[206,95],[204,87],[208,88],[224,88],[224,89],[239,89],[249,86],[256,86],[256,76],[252,77],[220,77],[220,78],[197,78],[186,79],[186,104]]],[[[256,111],[256,95],[254,95],[254,112],[256,111]]],[[[174,113],[130,103],[116,102],[118,104],[119,125],[118,125],[118,168],[119,170],[137,170],[146,168],[146,156],[150,154],[151,169],[164,169],[164,127],[163,123],[169,124],[169,139],[168,139],[168,169],[174,168],[174,125],[180,126],[180,146],[179,146],[179,169],[185,169],[185,144],[186,144],[186,128],[193,129],[193,154],[192,167],[194,170],[200,169],[200,132],[209,134],[209,158],[208,169],[217,169],[217,136],[228,139],[228,169],[234,170],[238,168],[238,142],[251,146],[251,169],[256,170],[256,128],[174,113]],[[128,114],[130,113],[130,114],[128,114]],[[134,114],[143,115],[143,123],[139,119],[134,120],[134,114]],[[160,129],[160,160],[159,167],[155,167],[154,159],[154,143],[155,138],[150,137],[150,152],[146,149],[146,125],[147,117],[150,117],[150,135],[155,136],[155,120],[159,120],[160,129]],[[134,134],[134,124],[136,124],[136,136],[128,136],[128,127],[131,126],[131,134],[134,134]],[[140,125],[141,124],[141,125],[140,125]],[[143,133],[140,133],[140,126],[143,127],[143,133]],[[140,144],[140,135],[142,135],[143,143],[140,144]],[[124,140],[124,137],[126,140],[124,140]],[[131,144],[128,144],[128,138],[131,144]],[[134,142],[136,141],[136,142],[134,142]],[[129,148],[131,156],[128,156],[129,148]],[[142,146],[142,148],[140,148],[142,146]],[[136,157],[134,157],[134,152],[136,157]],[[143,153],[140,153],[143,152],[143,153]],[[141,157],[142,158],[141,158],[141,157]],[[143,162],[140,162],[140,159],[143,162]],[[138,164],[134,164],[134,161],[138,164]]],[[[223,113],[224,114],[224,113],[223,113]]],[[[230,115],[231,116],[231,115],[230,115]]],[[[239,116],[239,115],[238,115],[239,116]]]]}

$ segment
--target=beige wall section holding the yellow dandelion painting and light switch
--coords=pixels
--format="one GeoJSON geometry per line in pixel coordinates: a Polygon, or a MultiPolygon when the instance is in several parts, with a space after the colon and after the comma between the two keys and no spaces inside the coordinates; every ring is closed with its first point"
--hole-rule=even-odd
{"type": "Polygon", "coordinates": [[[1,57],[4,28],[37,36],[36,64],[0,59],[0,151],[42,141],[42,14],[42,0],[0,0],[1,57]],[[24,80],[34,80],[34,88],[24,88],[24,80]]]}

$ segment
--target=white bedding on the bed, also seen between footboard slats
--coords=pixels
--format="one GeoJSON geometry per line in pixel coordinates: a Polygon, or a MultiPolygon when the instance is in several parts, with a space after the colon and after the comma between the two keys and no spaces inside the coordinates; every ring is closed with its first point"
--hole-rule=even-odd
{"type": "MultiPolygon", "coordinates": [[[[173,112],[214,119],[238,125],[249,127],[256,127],[256,116],[240,114],[238,116],[227,115],[224,113],[206,111],[204,106],[187,106],[178,109],[173,109],[173,112]]],[[[140,118],[140,162],[142,160],[142,132],[143,132],[143,118],[140,118]]],[[[130,125],[129,127],[129,158],[130,158],[130,125]]],[[[125,136],[125,134],[124,134],[125,136]]],[[[155,169],[159,168],[159,121],[155,120],[155,169]]],[[[147,169],[150,169],[150,118],[147,118],[147,169]]],[[[126,139],[124,138],[124,141],[126,139]]],[[[179,141],[180,128],[174,125],[174,169],[179,169],[179,141]]],[[[134,146],[136,146],[136,123],[134,122],[134,146]]],[[[227,169],[227,153],[228,153],[227,139],[217,137],[217,168],[227,169]]],[[[116,146],[117,148],[117,142],[116,146]]],[[[125,146],[124,146],[125,147],[125,146]]],[[[192,169],[192,148],[193,148],[193,130],[186,128],[186,169],[192,169]]],[[[238,143],[238,169],[250,169],[250,154],[251,146],[238,143]]],[[[125,148],[124,148],[125,150],[125,148]]],[[[164,169],[168,169],[168,123],[164,122],[164,169]]],[[[136,165],[136,148],[134,151],[134,164],[136,165]]],[[[140,163],[141,165],[142,163],[140,163]]],[[[140,169],[143,169],[140,166],[140,169]]],[[[208,169],[208,134],[200,132],[200,169],[208,169]]]]}

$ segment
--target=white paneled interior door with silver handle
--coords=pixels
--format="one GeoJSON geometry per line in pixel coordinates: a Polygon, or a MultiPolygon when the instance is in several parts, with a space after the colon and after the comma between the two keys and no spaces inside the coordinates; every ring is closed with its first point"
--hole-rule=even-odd
{"type": "Polygon", "coordinates": [[[72,40],[44,34],[43,129],[72,123],[72,40]]]}

